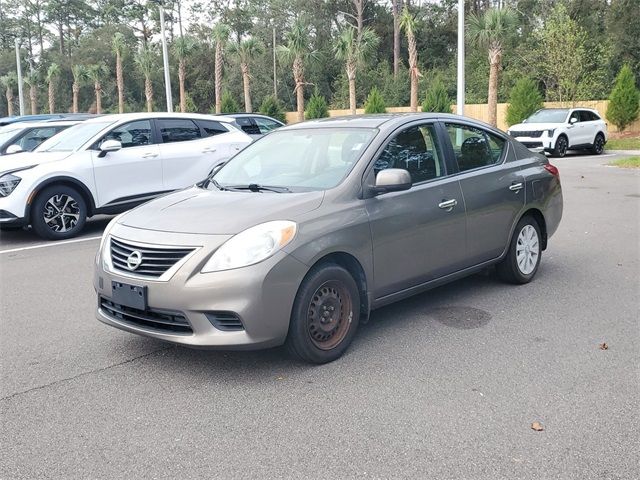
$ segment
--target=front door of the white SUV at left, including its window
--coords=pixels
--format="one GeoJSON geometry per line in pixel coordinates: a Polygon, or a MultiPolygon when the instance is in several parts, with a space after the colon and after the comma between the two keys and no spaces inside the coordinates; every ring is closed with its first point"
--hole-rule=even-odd
{"type": "Polygon", "coordinates": [[[110,130],[93,145],[92,161],[97,207],[126,206],[163,193],[162,161],[151,120],[136,120],[110,130]],[[105,140],[118,140],[122,148],[100,156],[105,140]]]}

